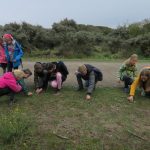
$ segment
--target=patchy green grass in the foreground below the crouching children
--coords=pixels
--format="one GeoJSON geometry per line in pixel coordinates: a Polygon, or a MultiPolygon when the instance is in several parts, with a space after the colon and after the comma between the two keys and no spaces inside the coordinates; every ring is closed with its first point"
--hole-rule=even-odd
{"type": "Polygon", "coordinates": [[[148,150],[150,99],[129,103],[121,88],[97,88],[93,99],[64,87],[55,96],[0,98],[0,150],[148,150]]]}

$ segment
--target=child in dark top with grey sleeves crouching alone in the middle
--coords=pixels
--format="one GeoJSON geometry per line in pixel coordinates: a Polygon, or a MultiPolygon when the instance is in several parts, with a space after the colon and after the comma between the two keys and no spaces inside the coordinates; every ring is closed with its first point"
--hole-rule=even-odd
{"type": "Polygon", "coordinates": [[[85,80],[85,86],[87,87],[86,100],[90,100],[96,83],[103,79],[102,72],[92,65],[84,64],[78,68],[75,75],[79,85],[78,91],[83,89],[82,79],[85,80]]]}

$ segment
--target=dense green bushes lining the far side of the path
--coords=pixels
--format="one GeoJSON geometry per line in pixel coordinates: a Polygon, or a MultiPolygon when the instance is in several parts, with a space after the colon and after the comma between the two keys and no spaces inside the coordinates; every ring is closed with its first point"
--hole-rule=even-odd
{"type": "Polygon", "coordinates": [[[0,26],[0,35],[11,33],[30,56],[126,57],[131,53],[150,56],[150,20],[112,29],[77,24],[64,19],[52,28],[23,22],[0,26]]]}

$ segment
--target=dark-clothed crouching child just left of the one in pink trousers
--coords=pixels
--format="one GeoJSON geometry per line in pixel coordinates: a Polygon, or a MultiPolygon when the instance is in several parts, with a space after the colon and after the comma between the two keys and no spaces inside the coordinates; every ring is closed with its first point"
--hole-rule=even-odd
{"type": "Polygon", "coordinates": [[[37,94],[46,91],[48,86],[48,71],[46,63],[36,62],[34,65],[34,85],[37,94]]]}

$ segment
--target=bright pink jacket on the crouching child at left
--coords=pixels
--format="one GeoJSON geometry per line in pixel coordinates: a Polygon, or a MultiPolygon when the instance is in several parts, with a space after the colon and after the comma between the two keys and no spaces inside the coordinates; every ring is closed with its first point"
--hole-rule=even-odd
{"type": "Polygon", "coordinates": [[[21,86],[17,83],[17,80],[12,72],[7,72],[0,77],[0,89],[10,88],[14,92],[20,92],[21,86]]]}

